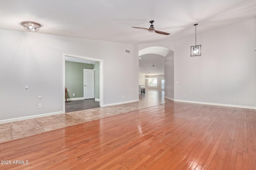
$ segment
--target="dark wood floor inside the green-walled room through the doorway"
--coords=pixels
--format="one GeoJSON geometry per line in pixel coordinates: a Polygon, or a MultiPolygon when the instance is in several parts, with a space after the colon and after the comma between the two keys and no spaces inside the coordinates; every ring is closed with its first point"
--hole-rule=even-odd
{"type": "Polygon", "coordinates": [[[71,111],[85,110],[100,107],[100,102],[94,99],[74,100],[65,102],[66,113],[71,111]]]}

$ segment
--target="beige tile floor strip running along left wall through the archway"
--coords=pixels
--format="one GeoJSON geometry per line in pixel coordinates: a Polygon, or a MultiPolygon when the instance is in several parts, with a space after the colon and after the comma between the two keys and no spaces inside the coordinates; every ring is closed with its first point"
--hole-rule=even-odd
{"type": "Polygon", "coordinates": [[[164,98],[164,91],[160,90],[147,90],[146,94],[139,95],[139,100],[139,102],[3,123],[0,124],[0,143],[172,102],[164,98]]]}

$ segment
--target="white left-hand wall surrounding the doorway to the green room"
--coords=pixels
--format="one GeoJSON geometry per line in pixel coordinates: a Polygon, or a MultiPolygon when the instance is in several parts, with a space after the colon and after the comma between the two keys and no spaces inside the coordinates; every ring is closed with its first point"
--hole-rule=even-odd
{"type": "Polygon", "coordinates": [[[62,112],[63,53],[104,61],[104,105],[138,100],[138,45],[9,30],[0,37],[0,120],[62,112]]]}

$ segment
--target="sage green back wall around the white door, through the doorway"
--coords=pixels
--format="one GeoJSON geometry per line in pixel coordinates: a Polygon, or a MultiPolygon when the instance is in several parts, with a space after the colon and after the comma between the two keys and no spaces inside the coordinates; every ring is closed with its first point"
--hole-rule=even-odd
{"type": "Polygon", "coordinates": [[[94,65],[65,61],[65,87],[68,90],[67,98],[84,97],[83,69],[94,69],[94,65]],[[73,93],[75,96],[73,96],[73,93]]]}

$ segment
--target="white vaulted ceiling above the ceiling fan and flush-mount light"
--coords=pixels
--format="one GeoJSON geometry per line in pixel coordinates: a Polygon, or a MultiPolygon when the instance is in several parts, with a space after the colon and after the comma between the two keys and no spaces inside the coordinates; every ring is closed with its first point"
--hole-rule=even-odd
{"type": "Polygon", "coordinates": [[[256,17],[256,0],[1,0],[0,29],[26,31],[20,23],[42,24],[39,33],[122,43],[169,41],[256,17]],[[131,27],[150,26],[160,35],[131,27]]]}

